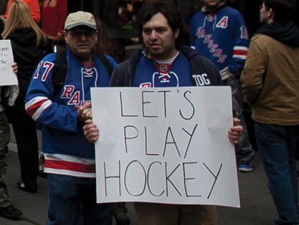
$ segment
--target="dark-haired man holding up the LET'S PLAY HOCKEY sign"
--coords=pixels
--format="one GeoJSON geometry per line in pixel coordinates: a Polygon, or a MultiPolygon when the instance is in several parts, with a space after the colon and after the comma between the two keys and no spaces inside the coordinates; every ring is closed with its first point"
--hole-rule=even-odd
{"type": "MultiPolygon", "coordinates": [[[[218,69],[209,59],[182,41],[182,18],[177,9],[169,3],[156,1],[141,9],[137,21],[145,46],[132,54],[129,60],[115,68],[110,80],[112,87],[183,87],[216,86],[222,80],[218,69]]],[[[90,115],[90,109],[85,110],[90,115]]],[[[242,127],[229,129],[229,140],[236,144],[242,127]]],[[[93,120],[85,121],[85,136],[91,143],[98,140],[99,130],[93,120]]],[[[142,225],[216,225],[216,206],[134,203],[142,225]]]]}

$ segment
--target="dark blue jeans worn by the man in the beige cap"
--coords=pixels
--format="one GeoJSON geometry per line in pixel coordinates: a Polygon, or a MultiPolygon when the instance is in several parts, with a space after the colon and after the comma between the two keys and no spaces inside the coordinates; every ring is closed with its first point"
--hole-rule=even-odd
{"type": "Polygon", "coordinates": [[[95,179],[48,174],[47,224],[112,224],[114,204],[97,204],[95,179]]]}

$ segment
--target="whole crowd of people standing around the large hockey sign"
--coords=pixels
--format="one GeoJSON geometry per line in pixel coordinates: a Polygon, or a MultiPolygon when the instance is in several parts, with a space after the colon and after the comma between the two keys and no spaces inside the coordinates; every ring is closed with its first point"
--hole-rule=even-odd
{"type": "MultiPolygon", "coordinates": [[[[11,67],[19,81],[14,105],[7,105],[3,98],[0,102],[0,216],[16,219],[22,215],[5,183],[9,122],[18,147],[21,182],[16,185],[21,191],[36,193],[38,189],[36,128],[41,130],[48,181],[47,224],[112,224],[113,215],[117,224],[130,224],[124,203],[96,202],[94,144],[100,131],[92,120],[90,88],[226,85],[231,87],[234,115],[227,136],[235,146],[238,170],[254,169],[254,150],[243,117],[246,103],[252,110],[258,151],[278,211],[274,223],[299,224],[295,0],[263,0],[263,26],[251,40],[239,11],[223,0],[204,0],[189,24],[190,46],[183,46],[184,21],[177,7],[169,1],[152,1],[135,15],[142,49],[126,61],[108,38],[105,23],[93,14],[78,11],[66,16],[65,0],[45,0],[42,11],[36,3],[9,0],[0,24],[1,38],[11,41],[15,62],[11,67]],[[62,14],[48,23],[58,8],[62,14]],[[49,53],[51,41],[63,41],[66,47],[49,53]],[[154,73],[163,76],[153,79],[154,73]],[[205,75],[207,82],[196,82],[196,75],[205,75]]],[[[140,224],[217,224],[214,205],[136,202],[134,206],[140,224]]]]}

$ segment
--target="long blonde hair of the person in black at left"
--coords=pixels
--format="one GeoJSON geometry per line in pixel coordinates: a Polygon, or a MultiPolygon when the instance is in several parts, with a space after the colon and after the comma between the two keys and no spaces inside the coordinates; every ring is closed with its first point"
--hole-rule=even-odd
{"type": "Polygon", "coordinates": [[[23,1],[15,1],[9,7],[9,14],[6,19],[4,26],[4,31],[2,32],[2,37],[6,39],[11,33],[19,28],[32,28],[36,33],[36,46],[38,46],[41,41],[46,40],[47,36],[41,28],[38,27],[31,16],[29,6],[23,1]]]}

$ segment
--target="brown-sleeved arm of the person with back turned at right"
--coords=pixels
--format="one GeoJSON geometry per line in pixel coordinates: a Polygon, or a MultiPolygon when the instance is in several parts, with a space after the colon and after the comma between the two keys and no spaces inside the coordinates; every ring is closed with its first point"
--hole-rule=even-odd
{"type": "Polygon", "coordinates": [[[251,41],[245,67],[241,75],[243,98],[249,106],[256,102],[263,88],[264,62],[266,61],[264,57],[256,42],[251,41]]]}

